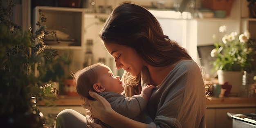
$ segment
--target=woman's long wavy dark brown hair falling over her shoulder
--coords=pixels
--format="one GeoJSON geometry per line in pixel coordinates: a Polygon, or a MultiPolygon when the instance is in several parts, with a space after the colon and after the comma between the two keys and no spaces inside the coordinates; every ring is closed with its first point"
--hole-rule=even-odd
{"type": "MultiPolygon", "coordinates": [[[[182,58],[193,60],[185,48],[163,34],[155,16],[131,2],[120,4],[112,11],[99,36],[104,43],[134,48],[146,63],[155,67],[171,65],[182,58]]],[[[136,87],[140,74],[126,79],[126,85],[136,87]]]]}

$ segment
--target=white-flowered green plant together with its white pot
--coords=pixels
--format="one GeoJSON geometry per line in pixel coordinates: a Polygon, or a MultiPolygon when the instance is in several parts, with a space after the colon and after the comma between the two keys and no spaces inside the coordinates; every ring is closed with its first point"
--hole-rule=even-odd
{"type": "Polygon", "coordinates": [[[225,82],[228,82],[229,85],[232,85],[230,93],[239,94],[244,71],[255,70],[253,64],[255,52],[250,47],[252,44],[250,33],[246,30],[240,35],[237,32],[225,34],[227,31],[225,25],[220,26],[219,31],[224,33],[224,36],[219,42],[213,35],[216,40],[215,49],[211,51],[211,56],[216,58],[213,62],[213,71],[217,71],[219,84],[224,85],[225,82]]]}

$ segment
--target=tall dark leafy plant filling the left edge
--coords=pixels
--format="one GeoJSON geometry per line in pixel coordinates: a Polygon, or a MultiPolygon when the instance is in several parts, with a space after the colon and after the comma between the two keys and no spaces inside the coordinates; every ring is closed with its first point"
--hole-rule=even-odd
{"type": "Polygon", "coordinates": [[[40,116],[38,108],[31,98],[54,101],[58,91],[48,84],[40,87],[36,77],[37,63],[41,56],[51,59],[56,50],[44,51],[44,36],[54,32],[46,31],[42,22],[46,22],[40,12],[38,29],[35,34],[31,28],[22,32],[21,27],[13,23],[11,9],[13,0],[7,0],[7,7],[0,0],[0,117],[5,128],[38,128],[40,116]]]}

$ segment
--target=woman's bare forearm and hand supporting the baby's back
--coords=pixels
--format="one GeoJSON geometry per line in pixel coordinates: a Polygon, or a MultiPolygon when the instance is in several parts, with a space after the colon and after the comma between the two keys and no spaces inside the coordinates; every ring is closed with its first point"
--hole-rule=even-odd
{"type": "Polygon", "coordinates": [[[130,118],[124,117],[115,112],[110,106],[110,103],[101,97],[96,92],[89,92],[90,96],[97,99],[92,101],[86,99],[86,109],[90,110],[94,118],[100,119],[102,122],[114,127],[114,128],[147,128],[148,124],[144,124],[130,118]]]}

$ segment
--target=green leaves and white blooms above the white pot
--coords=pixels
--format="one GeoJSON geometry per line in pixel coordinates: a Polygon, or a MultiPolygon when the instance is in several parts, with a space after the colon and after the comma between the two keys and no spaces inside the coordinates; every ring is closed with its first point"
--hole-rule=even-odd
{"type": "MultiPolygon", "coordinates": [[[[220,26],[219,31],[225,33],[227,27],[220,26]]],[[[216,36],[213,35],[216,40],[216,36]]],[[[216,41],[214,43],[215,49],[211,51],[211,56],[216,57],[213,61],[213,71],[226,70],[226,71],[242,71],[251,72],[255,70],[253,65],[253,56],[255,52],[250,47],[252,40],[250,39],[249,31],[245,31],[238,36],[237,32],[225,34],[222,37],[222,42],[216,41]]]]}

